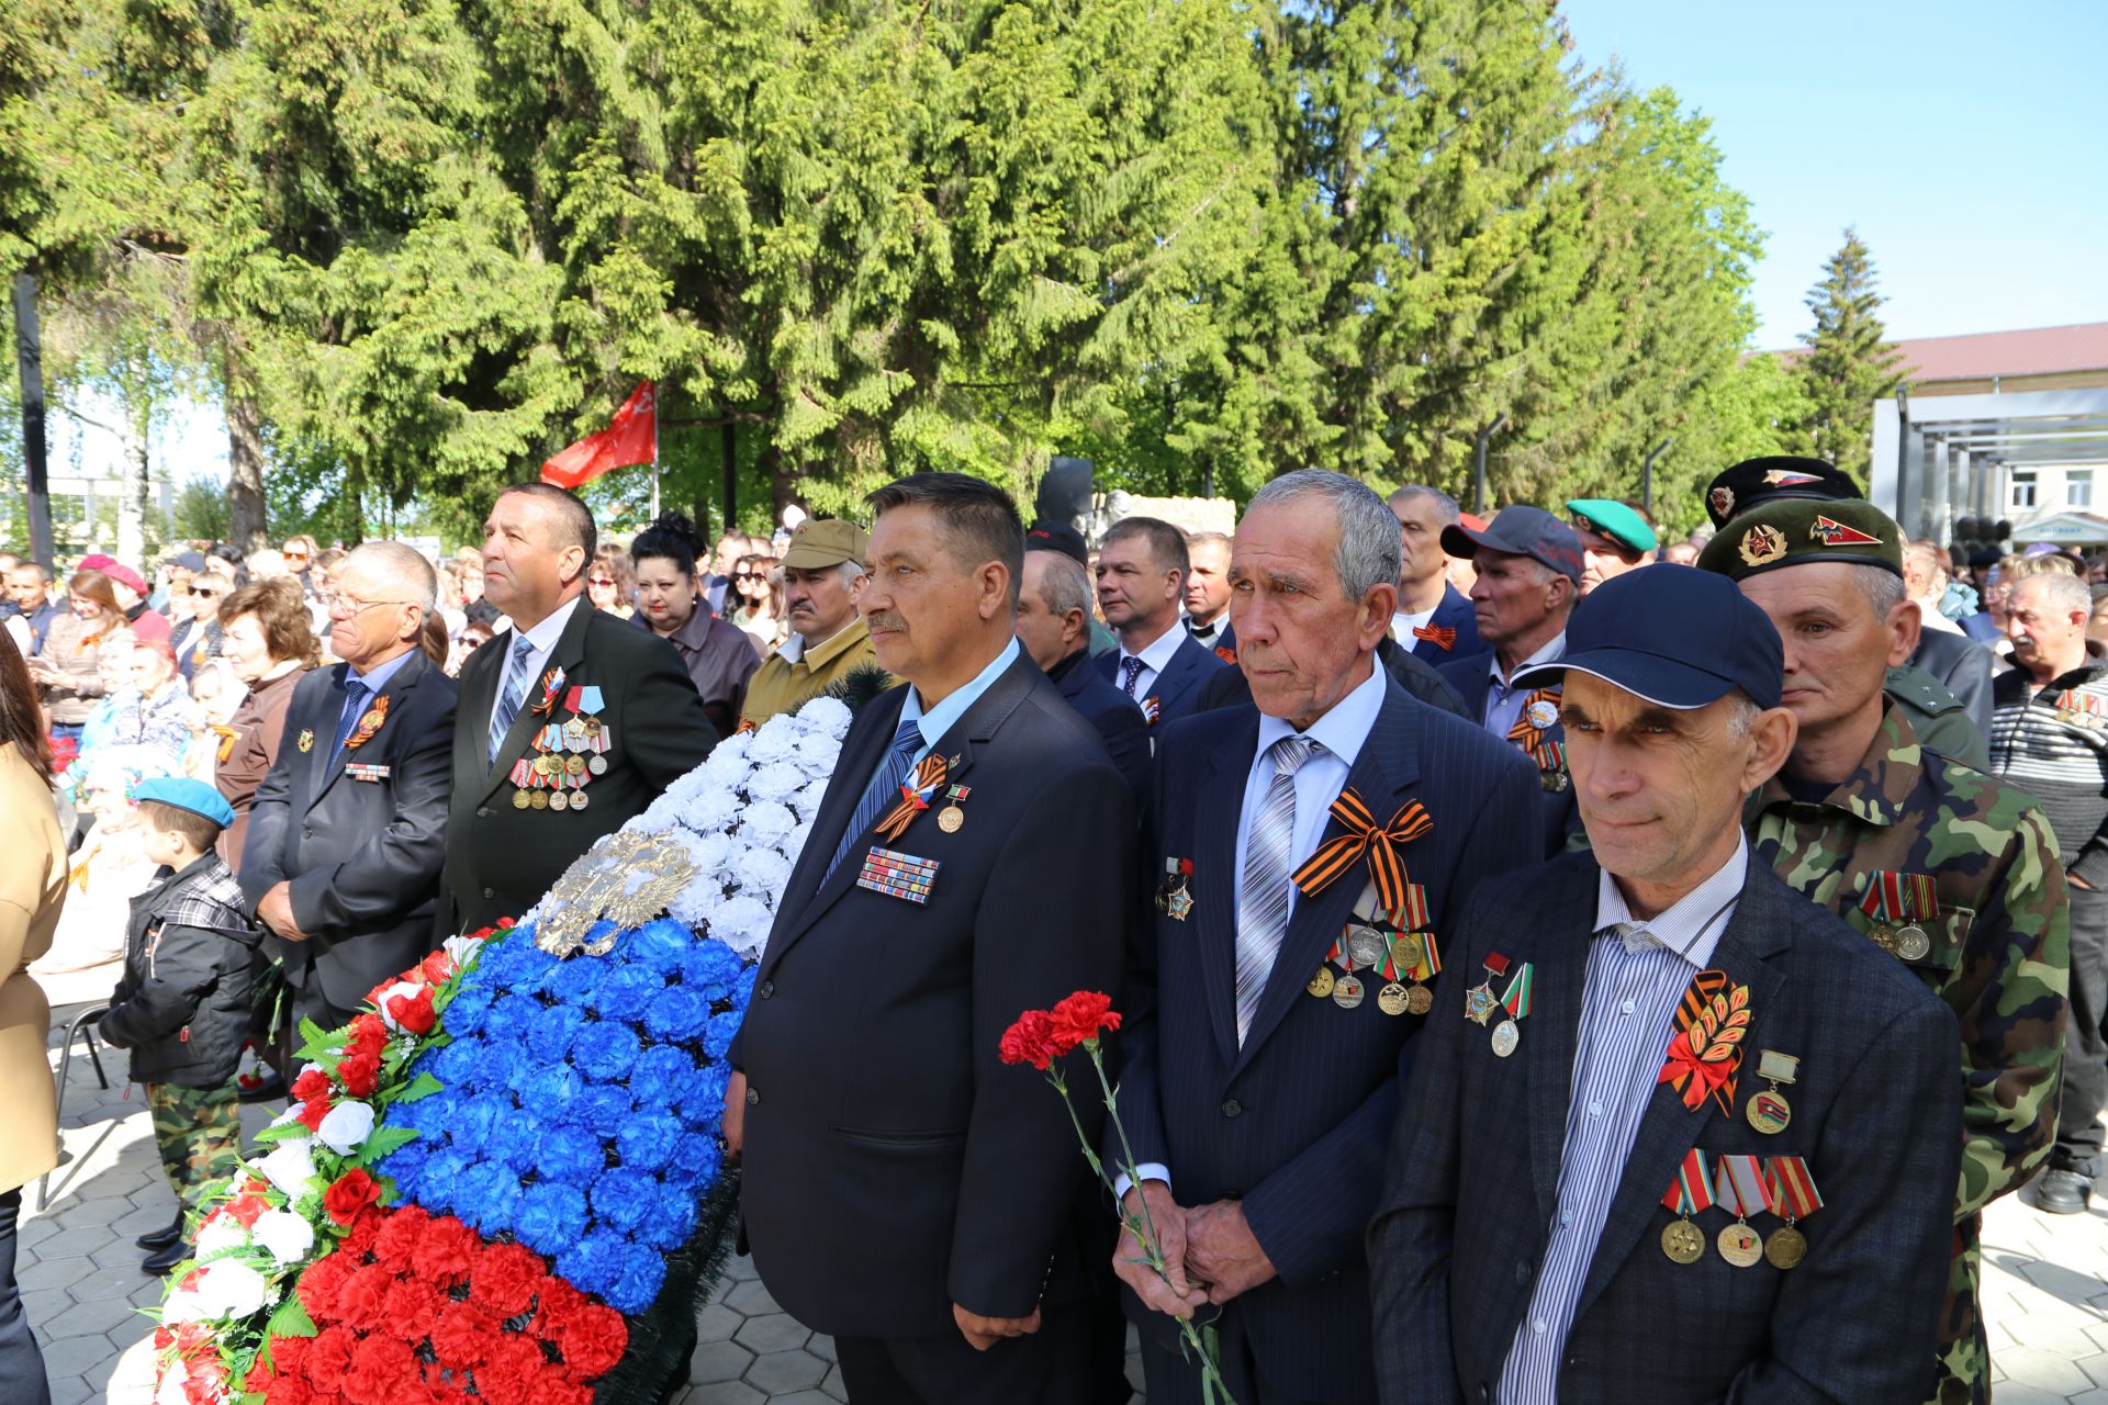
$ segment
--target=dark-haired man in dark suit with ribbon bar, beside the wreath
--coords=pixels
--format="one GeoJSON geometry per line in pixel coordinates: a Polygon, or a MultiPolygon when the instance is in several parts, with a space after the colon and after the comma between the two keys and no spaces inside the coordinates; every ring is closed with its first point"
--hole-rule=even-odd
{"type": "Polygon", "coordinates": [[[746,1236],[858,1405],[1079,1401],[1086,1165],[997,1045],[1075,990],[1117,998],[1134,798],[1012,636],[1010,499],[915,474],[871,506],[858,611],[906,687],[850,727],[731,1051],[746,1236]]]}

